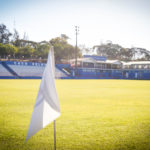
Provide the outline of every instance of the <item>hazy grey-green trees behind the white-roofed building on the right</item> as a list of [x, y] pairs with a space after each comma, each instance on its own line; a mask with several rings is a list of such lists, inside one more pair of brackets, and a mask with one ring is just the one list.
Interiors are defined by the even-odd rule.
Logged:
[[108, 59], [121, 61], [150, 60], [150, 52], [142, 48], [124, 48], [118, 44], [106, 43], [93, 47], [97, 55], [106, 56]]

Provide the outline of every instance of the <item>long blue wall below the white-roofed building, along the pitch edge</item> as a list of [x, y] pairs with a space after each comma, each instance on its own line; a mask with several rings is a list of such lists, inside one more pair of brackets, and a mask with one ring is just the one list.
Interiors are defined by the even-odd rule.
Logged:
[[[72, 70], [73, 72], [75, 70]], [[131, 79], [150, 80], [150, 70], [126, 70], [126, 69], [77, 69], [74, 79]]]

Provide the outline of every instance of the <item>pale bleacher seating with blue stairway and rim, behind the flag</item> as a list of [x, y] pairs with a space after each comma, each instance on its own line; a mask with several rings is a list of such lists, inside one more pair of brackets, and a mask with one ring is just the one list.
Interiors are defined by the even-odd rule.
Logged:
[[[43, 63], [33, 62], [0, 62], [0, 78], [41, 78], [45, 69]], [[66, 74], [55, 67], [55, 78], [66, 78]]]

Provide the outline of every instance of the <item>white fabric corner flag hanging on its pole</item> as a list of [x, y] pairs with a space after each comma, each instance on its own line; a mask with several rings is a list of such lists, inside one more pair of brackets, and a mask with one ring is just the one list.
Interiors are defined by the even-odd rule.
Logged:
[[26, 141], [60, 116], [60, 107], [55, 87], [54, 50], [51, 47], [43, 73]]

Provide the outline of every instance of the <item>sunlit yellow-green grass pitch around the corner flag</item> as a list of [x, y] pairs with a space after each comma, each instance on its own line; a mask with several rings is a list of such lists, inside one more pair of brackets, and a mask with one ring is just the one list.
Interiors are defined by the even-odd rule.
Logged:
[[[40, 80], [0, 80], [0, 150], [53, 150], [53, 124], [24, 143]], [[57, 80], [57, 150], [150, 150], [150, 81]]]

